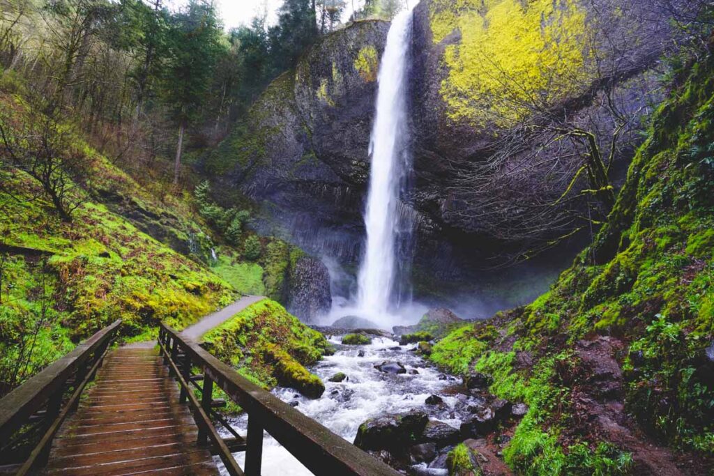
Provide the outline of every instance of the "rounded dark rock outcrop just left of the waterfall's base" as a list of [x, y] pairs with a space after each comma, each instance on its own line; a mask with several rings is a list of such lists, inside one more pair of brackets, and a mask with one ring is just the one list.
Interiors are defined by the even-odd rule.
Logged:
[[327, 268], [312, 256], [299, 258], [290, 273], [288, 310], [303, 322], [309, 323], [318, 315], [328, 312], [331, 306]]

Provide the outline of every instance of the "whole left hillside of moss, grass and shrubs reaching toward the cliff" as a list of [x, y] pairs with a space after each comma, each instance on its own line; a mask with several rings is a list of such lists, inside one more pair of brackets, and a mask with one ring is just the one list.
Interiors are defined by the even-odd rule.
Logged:
[[[303, 253], [248, 231], [249, 211], [226, 230], [214, 221], [236, 213], [201, 193], [156, 196], [73, 123], [31, 111], [21, 79], [1, 86], [0, 393], [116, 319], [125, 340], [147, 340], [238, 293], [287, 298]], [[38, 144], [48, 153], [24, 155]]]

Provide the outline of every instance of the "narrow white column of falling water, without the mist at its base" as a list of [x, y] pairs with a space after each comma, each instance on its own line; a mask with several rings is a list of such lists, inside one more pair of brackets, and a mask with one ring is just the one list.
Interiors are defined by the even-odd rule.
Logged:
[[357, 305], [371, 317], [389, 315], [398, 281], [400, 194], [409, 175], [407, 80], [412, 14], [392, 21], [378, 76], [376, 118], [370, 139], [371, 173], [364, 223], [366, 250], [358, 275]]

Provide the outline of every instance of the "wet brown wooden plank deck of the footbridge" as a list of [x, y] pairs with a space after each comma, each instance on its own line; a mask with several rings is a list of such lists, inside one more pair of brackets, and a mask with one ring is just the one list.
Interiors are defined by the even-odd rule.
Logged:
[[107, 355], [54, 440], [49, 475], [217, 475], [178, 387], [153, 348]]

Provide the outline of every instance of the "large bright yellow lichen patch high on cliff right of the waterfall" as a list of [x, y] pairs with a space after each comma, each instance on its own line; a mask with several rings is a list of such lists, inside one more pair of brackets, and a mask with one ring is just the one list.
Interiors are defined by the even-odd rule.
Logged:
[[432, 6], [434, 41], [461, 33], [443, 58], [441, 96], [451, 119], [511, 126], [533, 106], [556, 103], [587, 83], [586, 12], [577, 1], [456, 0], [451, 9], [444, 3]]

